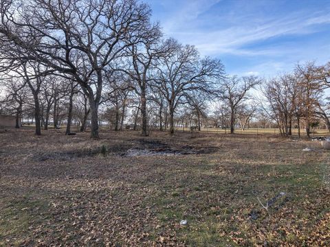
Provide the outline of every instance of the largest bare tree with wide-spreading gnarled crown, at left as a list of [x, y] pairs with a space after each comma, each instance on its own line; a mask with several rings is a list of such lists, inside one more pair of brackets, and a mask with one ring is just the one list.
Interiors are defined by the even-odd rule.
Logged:
[[103, 70], [125, 55], [129, 38], [145, 35], [150, 14], [135, 0], [1, 0], [3, 64], [29, 60], [74, 78], [89, 99], [91, 137], [98, 138]]

